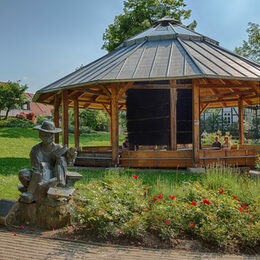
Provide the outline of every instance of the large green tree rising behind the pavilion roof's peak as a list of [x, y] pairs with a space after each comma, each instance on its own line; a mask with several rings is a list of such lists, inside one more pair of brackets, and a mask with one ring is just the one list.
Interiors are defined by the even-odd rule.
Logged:
[[[124, 13], [115, 17], [103, 34], [102, 49], [114, 50], [126, 39], [149, 28], [164, 16], [181, 21], [188, 19], [191, 10], [185, 10], [184, 0], [127, 0], [124, 1]], [[188, 27], [194, 29], [193, 21]]]

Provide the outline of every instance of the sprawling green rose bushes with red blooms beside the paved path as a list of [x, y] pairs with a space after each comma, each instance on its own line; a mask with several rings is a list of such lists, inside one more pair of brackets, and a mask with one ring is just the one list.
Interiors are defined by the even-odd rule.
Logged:
[[164, 241], [186, 234], [219, 247], [259, 246], [258, 194], [247, 201], [232, 187], [210, 187], [206, 181], [184, 183], [179, 196], [173, 190], [151, 197], [148, 188], [138, 176], [110, 172], [80, 187], [73, 214], [102, 237], [142, 238], [153, 232]]

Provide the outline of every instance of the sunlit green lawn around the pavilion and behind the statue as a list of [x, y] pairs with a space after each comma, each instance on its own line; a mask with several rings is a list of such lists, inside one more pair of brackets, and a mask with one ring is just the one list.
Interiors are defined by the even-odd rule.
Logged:
[[[122, 142], [123, 136], [120, 136]], [[18, 172], [23, 168], [30, 168], [29, 153], [35, 144], [39, 142], [38, 131], [26, 128], [0, 128], [0, 199], [17, 199]], [[74, 136], [69, 135], [69, 144], [73, 146]], [[82, 134], [81, 146], [109, 145], [109, 133], [98, 132]], [[83, 175], [80, 183], [88, 183], [94, 178], [103, 177], [107, 171], [101, 169], [77, 170]], [[225, 171], [225, 170], [224, 170]], [[217, 169], [213, 175], [192, 175], [184, 170], [120, 170], [120, 175], [139, 176], [146, 185], [151, 186], [151, 194], [170, 194], [174, 191], [181, 195], [185, 190], [185, 182], [199, 180], [210, 189], [225, 188], [234, 194], [241, 195], [248, 201], [254, 200], [260, 191], [258, 179], [241, 178], [226, 174], [223, 169]]]

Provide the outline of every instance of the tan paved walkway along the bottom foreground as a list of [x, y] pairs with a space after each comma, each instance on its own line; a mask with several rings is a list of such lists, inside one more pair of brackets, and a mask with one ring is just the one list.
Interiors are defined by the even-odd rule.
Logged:
[[14, 233], [0, 228], [0, 259], [260, 259], [260, 256], [219, 255], [174, 250], [143, 249], [79, 243], [43, 238], [37, 234]]

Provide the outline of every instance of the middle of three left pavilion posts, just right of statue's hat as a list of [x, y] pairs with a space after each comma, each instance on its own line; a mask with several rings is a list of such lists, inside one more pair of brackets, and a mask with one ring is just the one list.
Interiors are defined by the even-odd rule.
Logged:
[[69, 146], [69, 98], [68, 90], [62, 91], [62, 145]]

